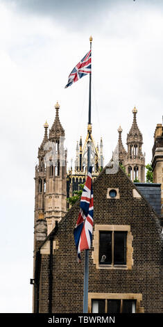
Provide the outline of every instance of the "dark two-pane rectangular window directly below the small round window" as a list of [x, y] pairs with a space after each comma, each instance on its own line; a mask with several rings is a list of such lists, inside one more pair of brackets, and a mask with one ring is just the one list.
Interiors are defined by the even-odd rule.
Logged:
[[127, 232], [100, 232], [99, 264], [126, 264]]

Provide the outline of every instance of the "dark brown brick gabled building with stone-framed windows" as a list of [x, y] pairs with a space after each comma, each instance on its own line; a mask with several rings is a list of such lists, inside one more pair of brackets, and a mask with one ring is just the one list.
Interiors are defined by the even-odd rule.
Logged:
[[[89, 312], [163, 312], [160, 216], [126, 173], [96, 177]], [[73, 230], [79, 201], [42, 242], [36, 235], [34, 312], [83, 312], [83, 263]], [[44, 239], [44, 241], [43, 241]]]

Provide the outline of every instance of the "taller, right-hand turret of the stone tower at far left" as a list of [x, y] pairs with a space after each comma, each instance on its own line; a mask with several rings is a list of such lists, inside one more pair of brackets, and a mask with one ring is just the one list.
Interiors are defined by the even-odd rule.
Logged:
[[60, 105], [55, 104], [55, 120], [49, 131], [49, 161], [46, 165], [46, 211], [47, 233], [55, 221], [67, 212], [67, 151], [64, 149], [65, 130], [59, 118]]

